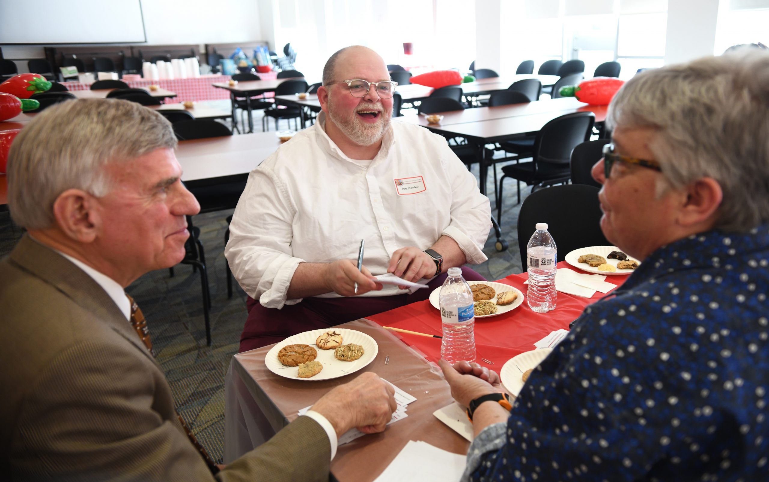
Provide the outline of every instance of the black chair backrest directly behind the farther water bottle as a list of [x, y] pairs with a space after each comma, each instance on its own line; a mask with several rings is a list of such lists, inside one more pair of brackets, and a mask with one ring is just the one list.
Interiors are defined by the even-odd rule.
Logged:
[[598, 188], [584, 184], [551, 186], [529, 194], [518, 213], [518, 249], [526, 266], [526, 245], [537, 223], [548, 223], [558, 246], [558, 261], [575, 249], [611, 246], [601, 231]]

